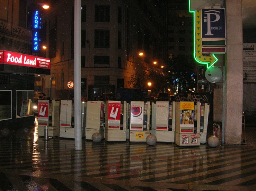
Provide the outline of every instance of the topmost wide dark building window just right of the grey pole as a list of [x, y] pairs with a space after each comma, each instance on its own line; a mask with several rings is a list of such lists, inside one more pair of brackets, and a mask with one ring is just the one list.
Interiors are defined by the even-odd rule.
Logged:
[[108, 5], [95, 5], [95, 22], [109, 22], [110, 7]]

